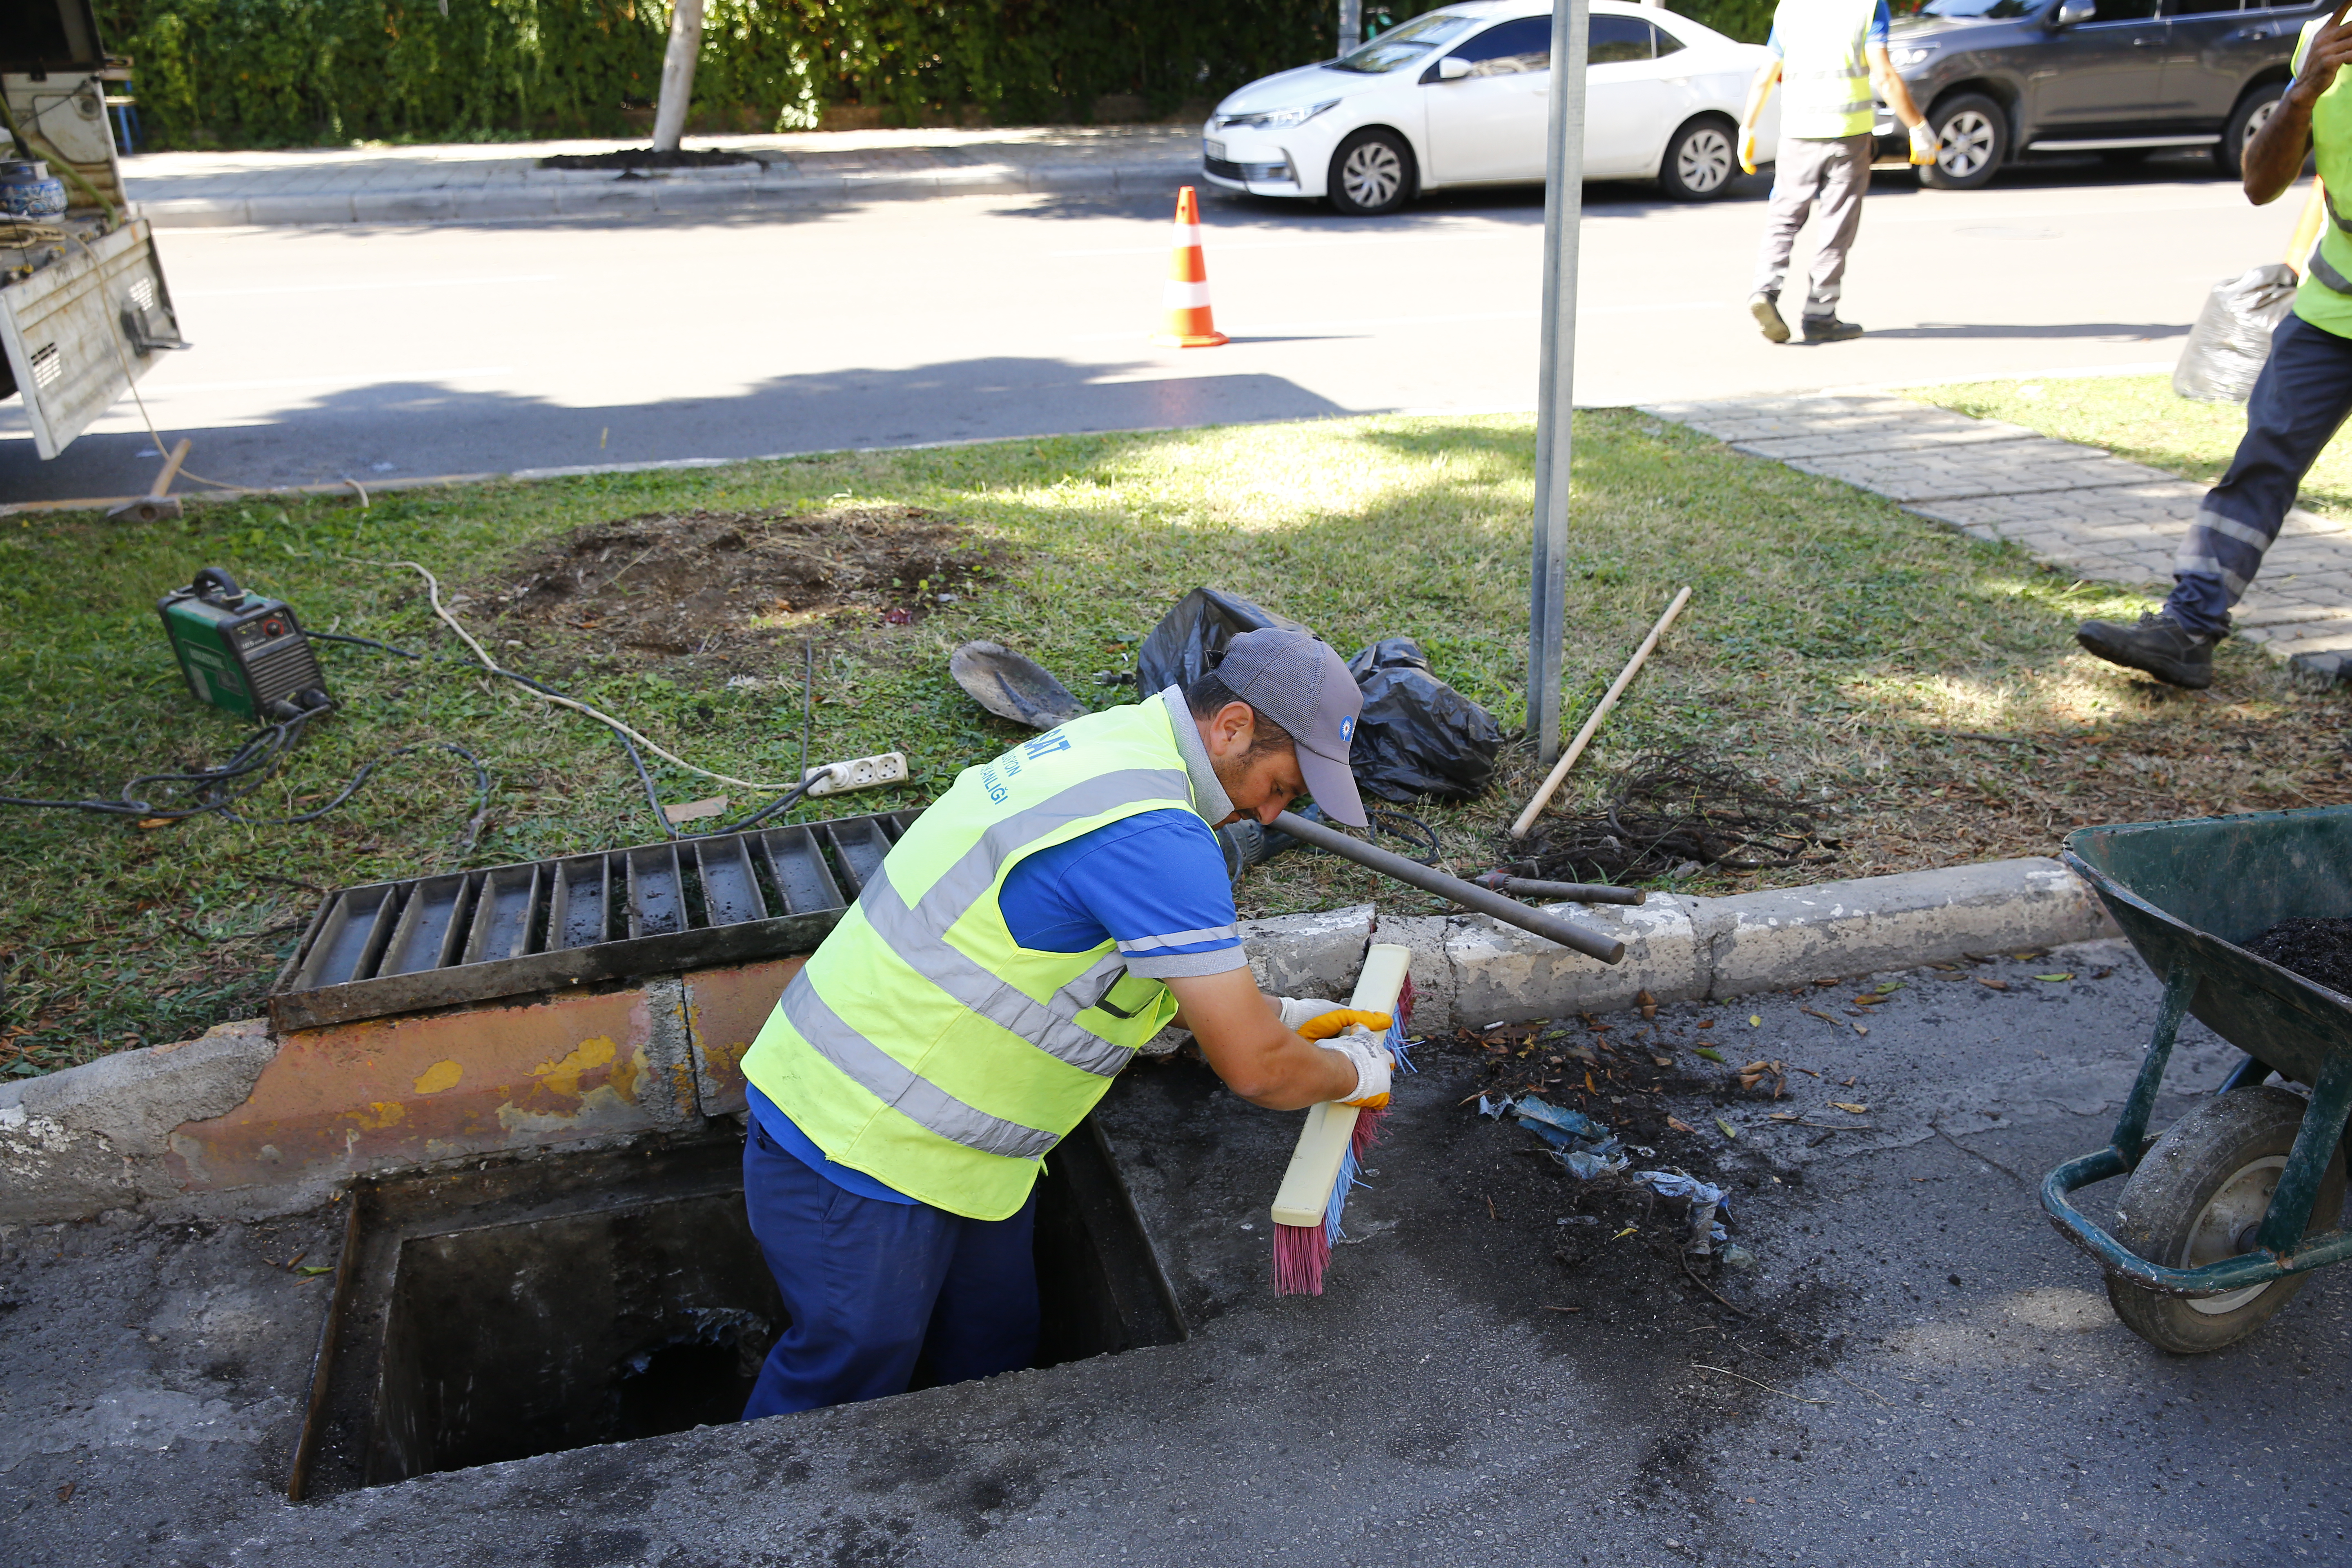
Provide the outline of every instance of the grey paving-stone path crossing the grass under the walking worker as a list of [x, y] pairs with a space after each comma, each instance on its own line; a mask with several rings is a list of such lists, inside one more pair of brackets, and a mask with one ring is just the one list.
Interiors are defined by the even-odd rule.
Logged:
[[[2077, 576], [2147, 583], [2159, 595], [2206, 494], [2098, 447], [1907, 397], [1738, 397], [1642, 411], [1733, 451], [1844, 480], [1976, 538], [2013, 541]], [[2352, 679], [2352, 529], [2303, 508], [2288, 512], [2234, 625], [2314, 682]]]

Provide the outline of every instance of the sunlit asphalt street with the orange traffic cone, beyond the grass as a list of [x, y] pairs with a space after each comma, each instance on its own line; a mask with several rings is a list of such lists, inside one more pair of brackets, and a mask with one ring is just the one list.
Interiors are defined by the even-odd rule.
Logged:
[[[2251, 209], [2199, 160], [1973, 193], [1882, 172], [1844, 308], [1870, 336], [1771, 348], [1743, 310], [1762, 188], [1588, 190], [1578, 402], [2169, 364], [2206, 287], [2277, 259], [2303, 200]], [[195, 350], [141, 390], [195, 437], [188, 468], [235, 484], [1534, 407], [1541, 193], [1204, 216], [1235, 339], [1214, 350], [1145, 343], [1164, 202], [165, 230]], [[0, 501], [143, 491], [146, 451], [129, 400], [54, 463], [0, 404]]]

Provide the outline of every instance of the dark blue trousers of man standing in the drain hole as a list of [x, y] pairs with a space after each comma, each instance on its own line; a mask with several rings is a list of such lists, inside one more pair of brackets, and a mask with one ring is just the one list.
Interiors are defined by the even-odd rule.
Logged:
[[1035, 1192], [1009, 1220], [858, 1197], [755, 1117], [743, 1208], [790, 1314], [743, 1420], [903, 1394], [917, 1361], [934, 1382], [964, 1382], [1035, 1359]]

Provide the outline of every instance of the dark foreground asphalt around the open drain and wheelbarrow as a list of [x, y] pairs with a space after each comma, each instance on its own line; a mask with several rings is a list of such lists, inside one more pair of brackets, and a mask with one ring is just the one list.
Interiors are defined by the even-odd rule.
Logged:
[[[1595, 1197], [1524, 1128], [1479, 1119], [1475, 1065], [1444, 1048], [1399, 1084], [1327, 1295], [1272, 1298], [1265, 1201], [1296, 1117], [1197, 1067], [1138, 1067], [1101, 1114], [1190, 1340], [301, 1507], [275, 1488], [322, 1288], [285, 1260], [332, 1258], [332, 1213], [0, 1234], [0, 1559], [2352, 1561], [2352, 1274], [2321, 1274], [2237, 1347], [2166, 1356], [2034, 1204], [2044, 1171], [2107, 1135], [2154, 1013], [2145, 969], [2103, 943], [1903, 978], [1867, 1037], [1839, 990], [1663, 1011], [1686, 1065], [1717, 1039], [1733, 1063], [1792, 1067], [1778, 1103], [1689, 1074], [1663, 1093], [1700, 1131], [1656, 1159], [1722, 1182], [1757, 1255], [1712, 1276], [1736, 1312], [1675, 1265], [1677, 1215]], [[1639, 1018], [1599, 1023], [1618, 1063], [1649, 1056], [1625, 1051]], [[2199, 1025], [2180, 1039], [2159, 1124], [2234, 1060]], [[1649, 1091], [1621, 1086], [1592, 1110], [1656, 1124]]]

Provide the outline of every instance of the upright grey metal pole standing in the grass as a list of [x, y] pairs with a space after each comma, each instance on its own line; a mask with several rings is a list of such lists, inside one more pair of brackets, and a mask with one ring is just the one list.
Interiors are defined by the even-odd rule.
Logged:
[[1543, 160], [1543, 381], [1536, 393], [1536, 562], [1526, 604], [1526, 733], [1559, 755], [1569, 592], [1569, 411], [1576, 407], [1576, 230], [1585, 216], [1585, 0], [1552, 5], [1552, 127]]

